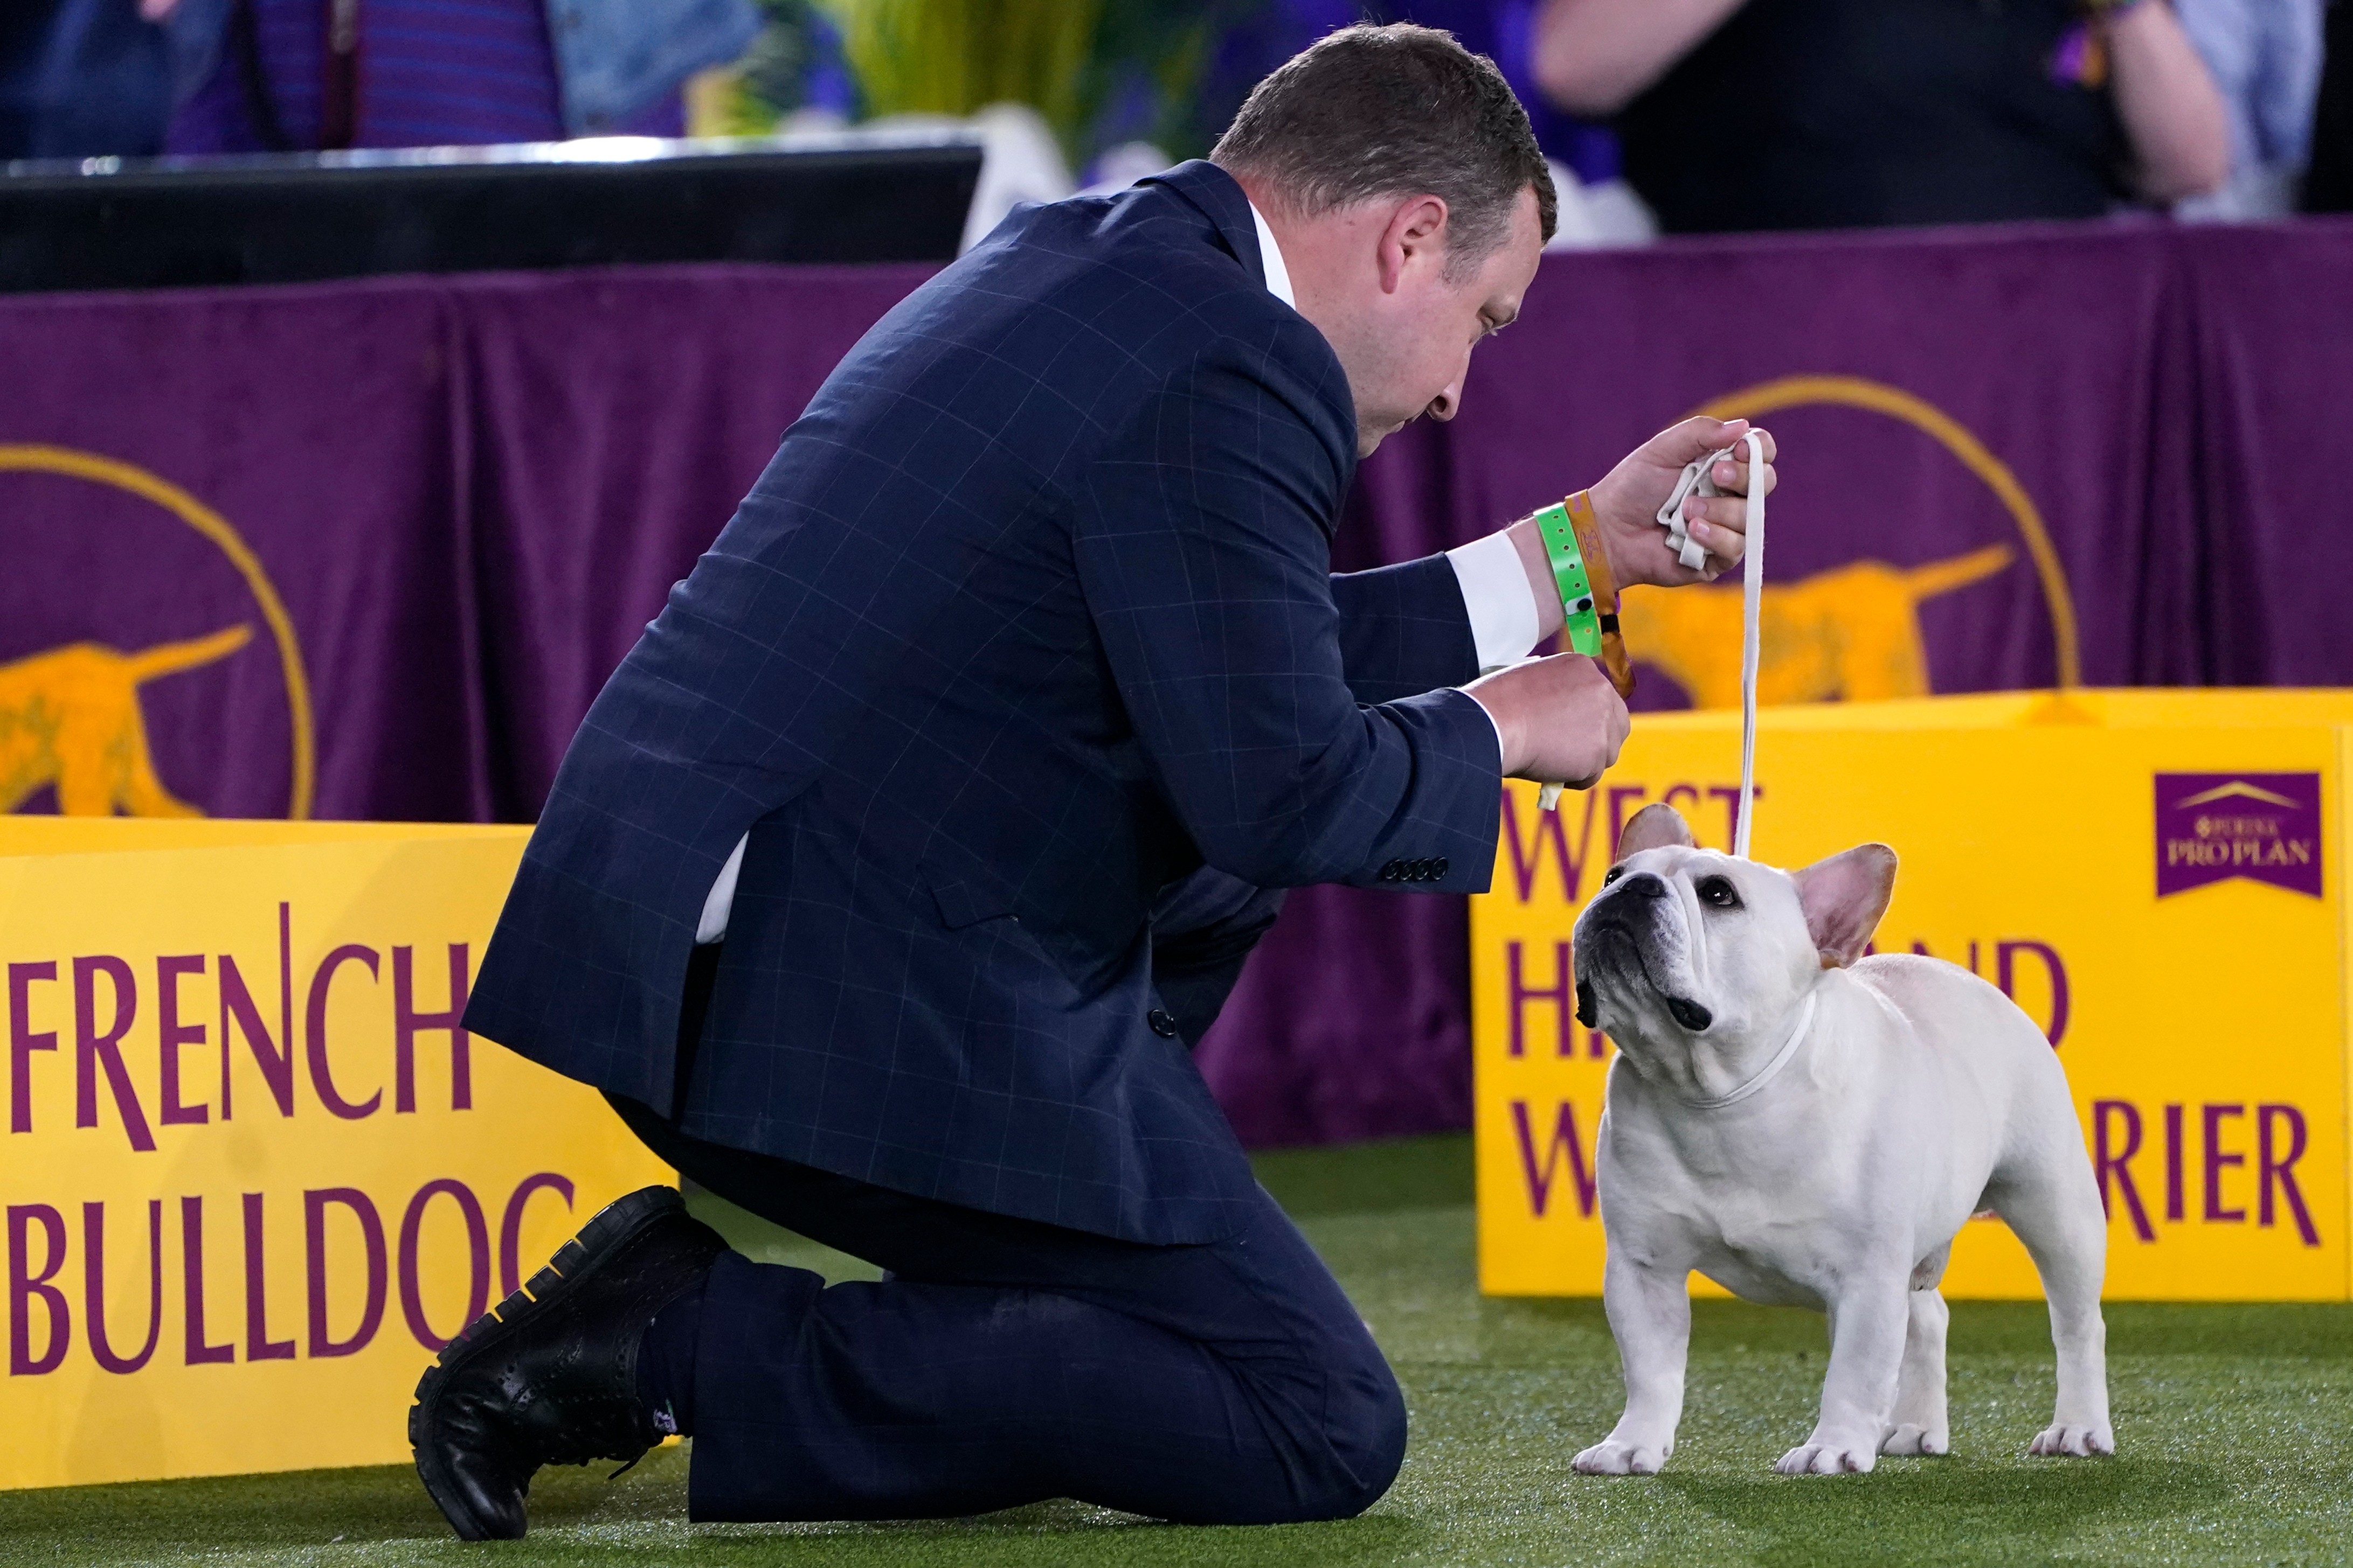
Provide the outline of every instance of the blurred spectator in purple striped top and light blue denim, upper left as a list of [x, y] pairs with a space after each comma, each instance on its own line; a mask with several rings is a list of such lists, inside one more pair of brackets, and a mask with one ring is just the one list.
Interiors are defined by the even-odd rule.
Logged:
[[685, 132], [680, 85], [751, 0], [141, 0], [169, 21], [169, 153]]

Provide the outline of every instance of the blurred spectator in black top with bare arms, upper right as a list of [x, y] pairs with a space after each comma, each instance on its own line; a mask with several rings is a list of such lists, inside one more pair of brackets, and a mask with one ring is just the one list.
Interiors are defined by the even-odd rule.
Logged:
[[1537, 80], [1617, 115], [1668, 233], [2087, 219], [2228, 176], [2165, 0], [1548, 0]]

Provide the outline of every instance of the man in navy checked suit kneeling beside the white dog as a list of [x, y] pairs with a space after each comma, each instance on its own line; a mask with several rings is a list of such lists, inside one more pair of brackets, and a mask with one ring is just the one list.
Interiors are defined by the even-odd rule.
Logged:
[[[1499, 780], [1626, 733], [1588, 658], [1480, 679], [1560, 625], [1529, 522], [1329, 574], [1358, 458], [1454, 416], [1551, 226], [1489, 61], [1348, 28], [1212, 162], [1016, 212], [842, 360], [574, 738], [466, 1025], [887, 1274], [609, 1206], [419, 1385], [461, 1535], [666, 1432], [696, 1519], [1388, 1488], [1398, 1385], [1188, 1046], [1280, 889], [1485, 889]], [[1737, 430], [1593, 487], [1621, 583], [1704, 576], [1652, 512]], [[1713, 576], [1739, 501], [1692, 505]]]

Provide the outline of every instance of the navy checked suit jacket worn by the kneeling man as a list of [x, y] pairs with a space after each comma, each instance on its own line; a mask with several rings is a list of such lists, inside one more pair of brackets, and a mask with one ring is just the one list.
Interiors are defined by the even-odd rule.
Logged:
[[1148, 1023], [1155, 893], [1494, 863], [1461, 590], [1329, 574], [1353, 473], [1339, 360], [1224, 169], [1016, 212], [842, 360], [598, 696], [466, 1025], [694, 1138], [1228, 1234], [1254, 1185]]

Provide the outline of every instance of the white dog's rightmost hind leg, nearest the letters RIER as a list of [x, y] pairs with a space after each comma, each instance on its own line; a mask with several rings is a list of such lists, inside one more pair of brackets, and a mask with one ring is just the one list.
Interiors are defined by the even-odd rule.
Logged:
[[2108, 1326], [2099, 1314], [2108, 1222], [2073, 1117], [2066, 1138], [2057, 1159], [2019, 1180], [1998, 1182], [1988, 1197], [2033, 1253], [2052, 1309], [2052, 1347], [2059, 1352], [2059, 1403], [2028, 1453], [2087, 1458], [2115, 1453], [2115, 1432], [2108, 1427]]

